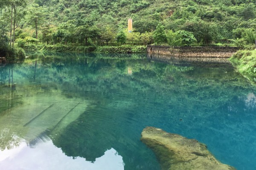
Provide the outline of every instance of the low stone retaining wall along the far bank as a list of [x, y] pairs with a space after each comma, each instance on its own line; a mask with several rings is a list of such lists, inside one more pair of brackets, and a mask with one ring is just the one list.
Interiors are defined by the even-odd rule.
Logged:
[[[163, 58], [170, 57], [179, 58], [229, 58], [239, 48], [237, 47], [172, 47], [172, 46], [157, 46], [148, 45], [147, 52], [152, 55], [162, 55]], [[166, 57], [164, 57], [166, 56]]]

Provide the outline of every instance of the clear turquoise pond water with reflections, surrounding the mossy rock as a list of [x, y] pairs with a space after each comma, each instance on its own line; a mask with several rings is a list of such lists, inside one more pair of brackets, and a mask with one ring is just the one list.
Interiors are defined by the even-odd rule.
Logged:
[[256, 88], [229, 64], [33, 54], [0, 75], [0, 169], [160, 170], [146, 126], [256, 169]]

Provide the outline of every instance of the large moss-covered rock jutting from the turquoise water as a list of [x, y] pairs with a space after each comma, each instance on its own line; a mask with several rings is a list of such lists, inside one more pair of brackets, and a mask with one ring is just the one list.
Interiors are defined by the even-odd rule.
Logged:
[[141, 136], [140, 140], [156, 154], [162, 170], [236, 170], [221, 164], [205, 144], [195, 139], [187, 139], [155, 127], [145, 127]]

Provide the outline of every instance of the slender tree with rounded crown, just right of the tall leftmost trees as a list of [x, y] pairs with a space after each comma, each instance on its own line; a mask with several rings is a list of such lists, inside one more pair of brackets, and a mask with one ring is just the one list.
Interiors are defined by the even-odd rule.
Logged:
[[38, 24], [44, 20], [44, 8], [38, 4], [34, 4], [33, 6], [29, 7], [28, 11], [28, 20], [32, 25], [35, 24], [35, 38], [38, 39]]

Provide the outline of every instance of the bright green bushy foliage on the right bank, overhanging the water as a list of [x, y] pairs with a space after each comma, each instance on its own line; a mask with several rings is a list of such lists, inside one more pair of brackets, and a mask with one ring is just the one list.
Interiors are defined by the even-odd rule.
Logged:
[[239, 73], [256, 82], [256, 51], [240, 50], [231, 57], [232, 64]]

